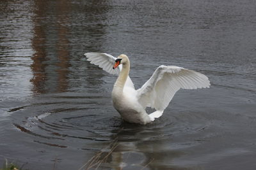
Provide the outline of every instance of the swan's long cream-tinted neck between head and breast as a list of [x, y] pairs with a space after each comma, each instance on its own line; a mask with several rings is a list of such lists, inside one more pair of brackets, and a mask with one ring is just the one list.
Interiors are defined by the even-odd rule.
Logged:
[[114, 88], [118, 88], [120, 90], [124, 89], [125, 82], [127, 80], [127, 77], [129, 76], [129, 71], [130, 71], [130, 62], [128, 60], [128, 62], [122, 65], [122, 70], [115, 82]]

